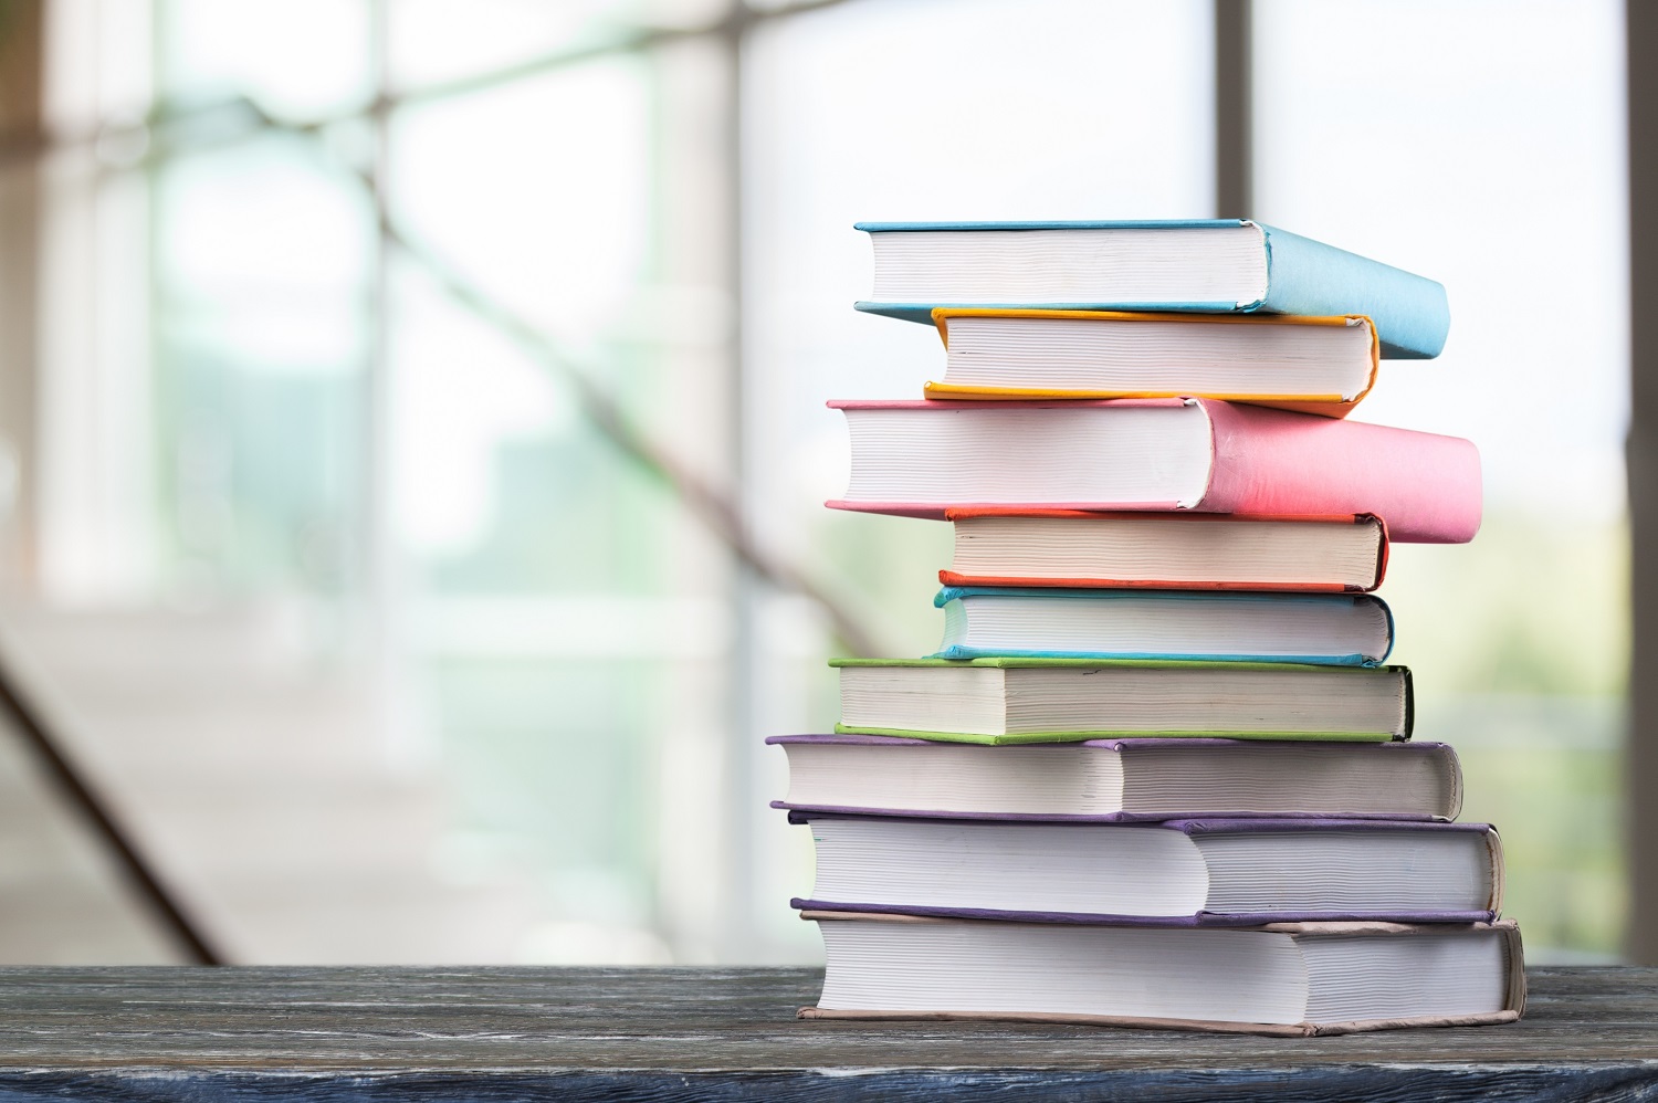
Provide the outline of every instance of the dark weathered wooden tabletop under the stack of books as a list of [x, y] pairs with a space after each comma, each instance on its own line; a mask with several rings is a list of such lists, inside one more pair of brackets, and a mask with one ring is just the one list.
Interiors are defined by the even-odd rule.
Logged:
[[1336, 1038], [797, 1022], [816, 970], [0, 969], [0, 1101], [1658, 1100], [1658, 970]]

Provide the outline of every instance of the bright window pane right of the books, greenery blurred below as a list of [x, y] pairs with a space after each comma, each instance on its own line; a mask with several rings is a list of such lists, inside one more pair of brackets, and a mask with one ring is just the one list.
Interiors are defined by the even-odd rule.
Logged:
[[1383, 594], [1419, 738], [1492, 819], [1527, 955], [1613, 954], [1628, 662], [1623, 7], [1255, 5], [1258, 216], [1446, 284], [1439, 360], [1360, 416], [1467, 436], [1469, 547], [1399, 547]]

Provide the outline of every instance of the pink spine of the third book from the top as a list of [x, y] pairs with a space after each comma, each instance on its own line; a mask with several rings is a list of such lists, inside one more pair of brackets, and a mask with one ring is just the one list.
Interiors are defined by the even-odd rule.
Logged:
[[1456, 436], [1199, 400], [1214, 433], [1202, 513], [1370, 513], [1388, 537], [1466, 544], [1479, 531], [1479, 449]]

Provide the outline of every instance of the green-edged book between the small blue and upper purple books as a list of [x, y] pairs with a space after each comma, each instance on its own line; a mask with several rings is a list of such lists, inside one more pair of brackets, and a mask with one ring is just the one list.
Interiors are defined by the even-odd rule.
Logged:
[[1411, 736], [1404, 667], [1134, 658], [834, 658], [836, 731], [962, 743]]

